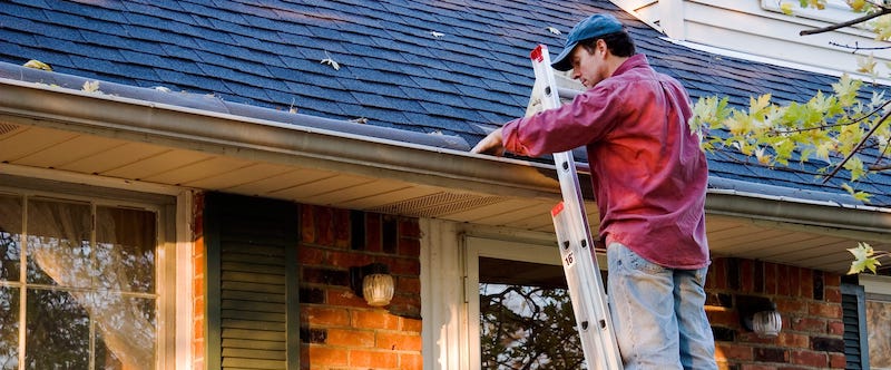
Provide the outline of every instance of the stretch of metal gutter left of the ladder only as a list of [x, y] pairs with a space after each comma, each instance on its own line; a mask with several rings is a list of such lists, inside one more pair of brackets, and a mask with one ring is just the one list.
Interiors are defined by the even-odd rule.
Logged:
[[324, 125], [317, 117], [295, 115], [296, 124], [282, 124], [9, 79], [0, 79], [0, 123], [40, 120], [43, 127], [89, 135], [495, 195], [559, 194], [552, 165], [489, 160], [464, 150], [300, 124]]

